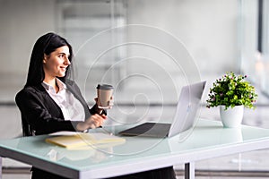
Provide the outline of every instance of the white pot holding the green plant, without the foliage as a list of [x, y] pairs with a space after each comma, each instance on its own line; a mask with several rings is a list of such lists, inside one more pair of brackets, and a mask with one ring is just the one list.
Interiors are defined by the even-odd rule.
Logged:
[[228, 107], [226, 110], [224, 106], [220, 106], [220, 115], [223, 127], [240, 127], [244, 115], [244, 106]]

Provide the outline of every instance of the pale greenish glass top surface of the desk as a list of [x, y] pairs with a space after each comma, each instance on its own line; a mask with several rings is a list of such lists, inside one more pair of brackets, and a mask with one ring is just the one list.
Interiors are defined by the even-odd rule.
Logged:
[[[117, 133], [122, 126], [107, 127], [106, 131]], [[97, 129], [93, 132], [103, 132]], [[198, 120], [195, 128], [172, 138], [157, 139], [146, 137], [124, 137], [125, 143], [103, 145], [86, 149], [65, 149], [45, 141], [48, 135], [23, 137], [0, 141], [0, 151], [4, 149], [19, 152], [33, 158], [72, 168], [77, 171], [139, 163], [153, 158], [171, 158], [191, 155], [195, 152], [221, 149], [241, 144], [257, 145], [256, 142], [269, 141], [269, 130], [242, 125], [239, 129], [223, 128], [220, 122]], [[10, 156], [8, 156], [10, 157]]]

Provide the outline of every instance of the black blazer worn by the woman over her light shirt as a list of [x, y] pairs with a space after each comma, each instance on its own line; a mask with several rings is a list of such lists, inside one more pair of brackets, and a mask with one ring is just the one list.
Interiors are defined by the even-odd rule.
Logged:
[[[96, 113], [97, 107], [94, 106], [91, 109], [88, 107], [74, 81], [65, 81], [65, 85], [82, 103], [85, 119]], [[61, 108], [57, 106], [41, 84], [23, 88], [18, 92], [15, 100], [21, 111], [24, 136], [75, 130], [78, 122], [65, 121]]]

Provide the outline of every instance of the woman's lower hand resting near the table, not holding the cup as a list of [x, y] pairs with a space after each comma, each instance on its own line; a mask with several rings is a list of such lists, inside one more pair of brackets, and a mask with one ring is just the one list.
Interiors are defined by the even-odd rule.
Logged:
[[76, 125], [76, 129], [78, 131], [85, 131], [87, 129], [95, 129], [97, 127], [100, 127], [104, 120], [107, 119], [107, 115], [91, 115], [88, 119], [86, 119], [84, 122], [81, 122]]

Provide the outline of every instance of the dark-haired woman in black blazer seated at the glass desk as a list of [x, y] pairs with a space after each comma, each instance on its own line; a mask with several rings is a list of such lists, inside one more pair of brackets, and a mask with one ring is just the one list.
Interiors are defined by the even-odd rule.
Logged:
[[[15, 98], [22, 115], [23, 135], [83, 132], [99, 127], [107, 118], [106, 111], [96, 104], [90, 109], [78, 86], [68, 79], [72, 58], [71, 45], [55, 33], [45, 34], [35, 43], [26, 84]], [[112, 100], [110, 104], [112, 107]], [[166, 177], [167, 174], [173, 177]], [[150, 175], [152, 178], [156, 178], [156, 175], [160, 178], [175, 178], [171, 167], [126, 175], [123, 178], [149, 178]], [[63, 177], [33, 167], [32, 178]]]

